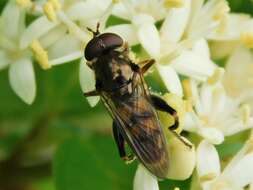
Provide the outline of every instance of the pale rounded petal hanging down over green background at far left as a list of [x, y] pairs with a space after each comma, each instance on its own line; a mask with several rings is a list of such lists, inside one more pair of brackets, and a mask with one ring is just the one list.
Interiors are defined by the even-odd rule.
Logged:
[[27, 104], [32, 104], [36, 83], [31, 60], [22, 59], [10, 65], [9, 80], [14, 92]]

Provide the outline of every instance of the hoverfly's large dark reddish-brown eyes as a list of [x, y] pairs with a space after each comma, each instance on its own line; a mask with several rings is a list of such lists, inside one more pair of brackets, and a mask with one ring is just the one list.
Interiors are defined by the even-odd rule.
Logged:
[[91, 61], [93, 58], [102, 55], [105, 51], [120, 47], [122, 44], [123, 40], [117, 34], [104, 33], [89, 41], [85, 48], [84, 55], [88, 61]]

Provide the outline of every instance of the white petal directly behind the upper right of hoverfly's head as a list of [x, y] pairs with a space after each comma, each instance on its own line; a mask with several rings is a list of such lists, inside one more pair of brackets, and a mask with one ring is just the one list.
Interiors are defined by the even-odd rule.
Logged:
[[120, 24], [108, 27], [105, 32], [113, 32], [120, 35], [130, 46], [139, 43], [135, 28], [131, 24]]

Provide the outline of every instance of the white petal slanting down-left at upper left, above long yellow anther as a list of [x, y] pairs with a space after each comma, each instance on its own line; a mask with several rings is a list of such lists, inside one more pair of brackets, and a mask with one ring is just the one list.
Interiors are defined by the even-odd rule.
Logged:
[[58, 24], [58, 22], [49, 21], [46, 16], [39, 17], [30, 24], [22, 34], [20, 48], [24, 49], [28, 47], [33, 40], [40, 38]]

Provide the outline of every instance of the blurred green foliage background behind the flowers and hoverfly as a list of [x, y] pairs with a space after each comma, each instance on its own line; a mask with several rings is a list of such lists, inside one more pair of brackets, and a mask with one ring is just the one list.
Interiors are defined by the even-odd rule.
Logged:
[[[0, 1], [0, 11], [6, 2]], [[229, 3], [232, 11], [253, 15], [251, 0]], [[122, 21], [111, 17], [108, 25], [118, 22]], [[138, 46], [134, 49], [140, 51]], [[8, 70], [0, 72], [0, 190], [132, 189], [137, 164], [120, 160], [111, 118], [101, 103], [91, 108], [83, 97], [78, 65], [77, 61], [43, 71], [34, 64], [37, 97], [31, 106], [11, 90]], [[155, 74], [147, 80], [154, 90], [163, 90]], [[242, 144], [233, 137], [228, 142], [218, 147], [222, 157]], [[187, 190], [190, 181], [166, 180], [160, 187]]]

